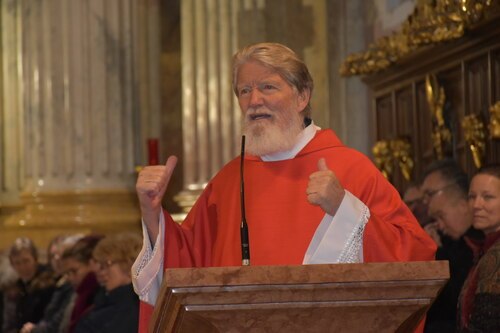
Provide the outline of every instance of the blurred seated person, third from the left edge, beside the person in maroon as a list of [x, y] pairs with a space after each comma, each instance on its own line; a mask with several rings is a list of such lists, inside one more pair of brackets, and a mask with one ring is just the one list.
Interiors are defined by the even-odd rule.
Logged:
[[24, 324], [20, 333], [51, 333], [59, 332], [66, 308], [70, 304], [74, 290], [64, 275], [61, 257], [63, 252], [73, 246], [83, 235], [60, 235], [49, 243], [48, 261], [56, 278], [55, 290], [50, 303], [45, 309], [43, 318], [38, 323]]

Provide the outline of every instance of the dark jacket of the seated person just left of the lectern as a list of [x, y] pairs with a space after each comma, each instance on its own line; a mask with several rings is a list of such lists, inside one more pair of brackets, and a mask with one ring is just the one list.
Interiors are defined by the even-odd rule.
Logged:
[[136, 333], [139, 298], [132, 284], [111, 290], [77, 324], [75, 333]]

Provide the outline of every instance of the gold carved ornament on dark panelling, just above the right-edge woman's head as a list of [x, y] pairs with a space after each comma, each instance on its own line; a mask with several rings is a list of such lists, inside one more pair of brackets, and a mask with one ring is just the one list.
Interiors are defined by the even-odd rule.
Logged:
[[477, 114], [470, 114], [462, 119], [465, 142], [472, 153], [476, 168], [483, 165], [484, 151], [486, 148], [485, 127]]

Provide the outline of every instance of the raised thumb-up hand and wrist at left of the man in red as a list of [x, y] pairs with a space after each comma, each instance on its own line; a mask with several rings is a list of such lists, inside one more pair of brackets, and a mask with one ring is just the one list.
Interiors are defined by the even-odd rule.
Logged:
[[177, 157], [170, 156], [165, 165], [144, 167], [137, 178], [135, 189], [139, 197], [142, 219], [152, 244], [158, 237], [161, 201], [176, 164]]

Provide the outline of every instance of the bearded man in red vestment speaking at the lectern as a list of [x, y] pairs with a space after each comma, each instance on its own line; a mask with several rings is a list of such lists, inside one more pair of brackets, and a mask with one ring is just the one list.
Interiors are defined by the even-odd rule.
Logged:
[[[311, 121], [313, 81], [292, 50], [250, 45], [235, 54], [233, 73], [248, 143], [252, 265], [434, 258], [435, 244], [369, 159]], [[164, 268], [242, 262], [240, 158], [207, 184], [182, 225], [161, 208], [175, 164], [170, 157], [146, 167], [137, 180], [145, 245], [133, 273], [142, 325]]]

